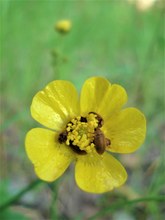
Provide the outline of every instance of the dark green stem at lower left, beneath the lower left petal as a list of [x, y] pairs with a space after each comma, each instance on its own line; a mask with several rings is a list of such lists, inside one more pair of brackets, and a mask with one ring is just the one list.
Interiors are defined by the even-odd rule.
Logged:
[[27, 192], [29, 192], [30, 190], [32, 190], [34, 187], [36, 187], [37, 185], [39, 185], [39, 183], [43, 183], [41, 180], [35, 180], [34, 182], [30, 183], [27, 187], [25, 187], [24, 189], [22, 189], [20, 192], [18, 192], [18, 194], [16, 194], [14, 197], [12, 197], [11, 199], [9, 199], [8, 201], [6, 201], [4, 204], [2, 204], [0, 206], [0, 211], [5, 210], [6, 208], [8, 208], [9, 206], [11, 206], [12, 204], [14, 204], [15, 202], [17, 202], [24, 194], [26, 194]]

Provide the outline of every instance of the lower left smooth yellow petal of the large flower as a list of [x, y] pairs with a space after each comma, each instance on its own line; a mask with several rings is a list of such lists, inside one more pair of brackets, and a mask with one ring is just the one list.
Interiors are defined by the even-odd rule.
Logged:
[[58, 135], [43, 128], [34, 128], [26, 135], [25, 145], [29, 159], [38, 177], [53, 181], [67, 169], [74, 154], [57, 141]]

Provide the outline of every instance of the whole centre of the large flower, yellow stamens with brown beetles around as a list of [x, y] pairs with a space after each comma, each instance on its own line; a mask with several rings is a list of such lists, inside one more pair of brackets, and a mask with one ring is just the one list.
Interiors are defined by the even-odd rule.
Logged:
[[66, 126], [66, 130], [59, 135], [59, 142], [66, 143], [78, 154], [87, 154], [97, 151], [102, 154], [110, 140], [104, 137], [101, 127], [103, 119], [95, 112], [86, 117], [78, 116]]

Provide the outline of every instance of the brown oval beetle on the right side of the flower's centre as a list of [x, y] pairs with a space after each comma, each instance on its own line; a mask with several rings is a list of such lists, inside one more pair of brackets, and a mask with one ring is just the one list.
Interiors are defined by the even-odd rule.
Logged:
[[98, 154], [103, 154], [105, 148], [111, 144], [110, 140], [104, 136], [99, 127], [95, 131], [93, 143]]

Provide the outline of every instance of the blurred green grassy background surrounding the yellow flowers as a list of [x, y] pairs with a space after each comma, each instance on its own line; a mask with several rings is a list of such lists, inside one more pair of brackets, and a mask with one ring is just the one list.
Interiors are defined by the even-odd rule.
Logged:
[[[24, 138], [39, 126], [30, 116], [32, 98], [52, 80], [70, 80], [79, 91], [96, 75], [122, 85], [128, 106], [146, 115], [147, 137], [137, 152], [115, 155], [129, 174], [120, 189], [82, 192], [71, 166], [57, 182], [41, 182], [21, 196], [0, 219], [163, 219], [165, 202], [156, 198], [165, 194], [164, 6], [156, 1], [145, 10], [139, 2], [1, 1], [0, 204], [36, 180]], [[72, 22], [65, 35], [54, 29], [60, 19]], [[127, 202], [148, 196], [155, 200]]]

